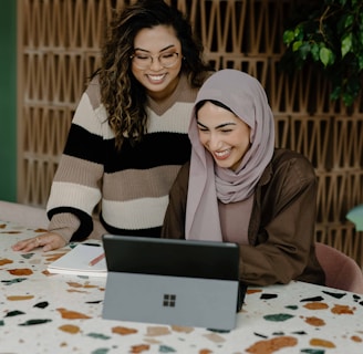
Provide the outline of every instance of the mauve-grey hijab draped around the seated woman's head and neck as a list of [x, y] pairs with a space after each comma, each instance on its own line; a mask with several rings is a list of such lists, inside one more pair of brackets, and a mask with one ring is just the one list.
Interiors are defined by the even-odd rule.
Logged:
[[[200, 87], [195, 106], [205, 100], [219, 101], [250, 126], [250, 148], [239, 168], [221, 168], [200, 144], [196, 111], [189, 125], [191, 142], [189, 188], [186, 207], [186, 239], [221, 241], [218, 199], [224, 204], [251, 197], [274, 148], [274, 122], [262, 85], [232, 69], [212, 74]], [[242, 215], [249, 223], [250, 212]]]

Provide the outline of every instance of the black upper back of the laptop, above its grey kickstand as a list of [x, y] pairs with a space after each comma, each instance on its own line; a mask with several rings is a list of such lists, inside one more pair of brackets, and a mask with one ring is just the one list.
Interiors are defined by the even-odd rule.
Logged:
[[237, 243], [104, 235], [108, 271], [238, 280]]

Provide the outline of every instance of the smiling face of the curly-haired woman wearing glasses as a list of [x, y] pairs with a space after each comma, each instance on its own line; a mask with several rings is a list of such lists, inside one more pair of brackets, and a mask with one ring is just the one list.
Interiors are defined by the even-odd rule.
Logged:
[[[149, 66], [141, 69], [132, 61], [132, 72], [136, 80], [146, 88], [154, 100], [164, 100], [175, 90], [182, 69], [182, 44], [173, 27], [157, 25], [141, 30], [134, 40], [134, 55], [152, 55]], [[164, 67], [159, 55], [178, 53], [174, 65]]]

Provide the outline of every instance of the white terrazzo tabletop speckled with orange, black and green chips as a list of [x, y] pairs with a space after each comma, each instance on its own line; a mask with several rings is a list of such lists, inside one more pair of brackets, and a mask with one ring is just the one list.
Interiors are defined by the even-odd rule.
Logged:
[[0, 354], [363, 353], [363, 295], [302, 282], [249, 288], [228, 333], [103, 320], [105, 278], [46, 271], [69, 248], [11, 250], [41, 232], [0, 221]]

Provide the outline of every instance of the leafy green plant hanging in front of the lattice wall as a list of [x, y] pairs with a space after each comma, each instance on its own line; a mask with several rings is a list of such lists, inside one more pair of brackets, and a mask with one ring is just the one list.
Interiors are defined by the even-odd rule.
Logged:
[[281, 67], [313, 65], [331, 83], [331, 98], [351, 106], [362, 91], [363, 1], [315, 0], [295, 10], [284, 27]]

